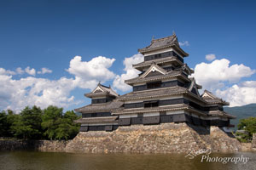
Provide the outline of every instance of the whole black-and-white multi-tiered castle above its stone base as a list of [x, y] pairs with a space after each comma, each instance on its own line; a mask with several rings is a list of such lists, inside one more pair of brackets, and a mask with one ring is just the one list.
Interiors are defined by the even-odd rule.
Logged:
[[76, 121], [81, 123], [80, 132], [170, 122], [218, 126], [227, 132], [233, 127], [230, 119], [236, 117], [223, 110], [228, 102], [207, 90], [198, 93], [202, 87], [189, 78], [194, 72], [184, 63], [189, 54], [179, 47], [175, 34], [153, 39], [138, 52], [144, 55], [144, 61], [132, 66], [141, 73], [125, 80], [133, 88], [131, 93], [119, 96], [112, 88], [99, 83], [92, 92], [84, 94], [91, 104], [75, 109], [82, 113], [82, 118]]

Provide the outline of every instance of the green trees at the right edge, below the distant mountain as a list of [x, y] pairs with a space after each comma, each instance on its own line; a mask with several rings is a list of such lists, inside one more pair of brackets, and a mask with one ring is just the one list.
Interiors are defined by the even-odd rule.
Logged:
[[240, 136], [241, 142], [249, 142], [253, 139], [253, 133], [256, 133], [256, 117], [241, 119], [238, 124], [239, 130], [245, 130], [246, 133], [236, 133]]

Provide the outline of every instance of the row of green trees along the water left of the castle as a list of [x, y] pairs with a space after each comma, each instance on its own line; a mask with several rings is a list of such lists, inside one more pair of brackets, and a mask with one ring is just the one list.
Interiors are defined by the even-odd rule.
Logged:
[[74, 111], [63, 113], [62, 108], [49, 105], [42, 111], [39, 107], [26, 106], [20, 114], [14, 111], [0, 112], [0, 137], [17, 139], [73, 139], [79, 133], [79, 119]]

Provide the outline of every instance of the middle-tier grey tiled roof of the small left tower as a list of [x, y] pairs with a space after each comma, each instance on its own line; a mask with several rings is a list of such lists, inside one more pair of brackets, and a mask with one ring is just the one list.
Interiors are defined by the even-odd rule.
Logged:
[[114, 109], [119, 108], [121, 105], [123, 105], [123, 102], [113, 100], [102, 104], [85, 105], [84, 107], [75, 109], [75, 111], [79, 113], [111, 112]]

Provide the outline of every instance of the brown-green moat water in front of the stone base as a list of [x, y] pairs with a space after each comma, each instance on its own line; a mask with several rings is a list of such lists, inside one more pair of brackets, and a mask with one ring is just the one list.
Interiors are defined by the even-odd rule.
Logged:
[[[0, 170], [256, 169], [255, 152], [209, 155], [210, 158], [218, 156], [218, 162], [208, 162], [206, 161], [207, 158], [201, 161], [204, 155], [198, 155], [194, 158], [192, 156], [185, 156], [186, 155], [181, 154], [75, 154], [37, 151], [2, 151], [0, 152]], [[224, 157], [230, 157], [230, 162], [226, 164], [220, 162]], [[231, 160], [232, 157], [233, 160]], [[248, 157], [249, 160], [246, 163], [242, 161], [235, 162], [236, 157]]]

